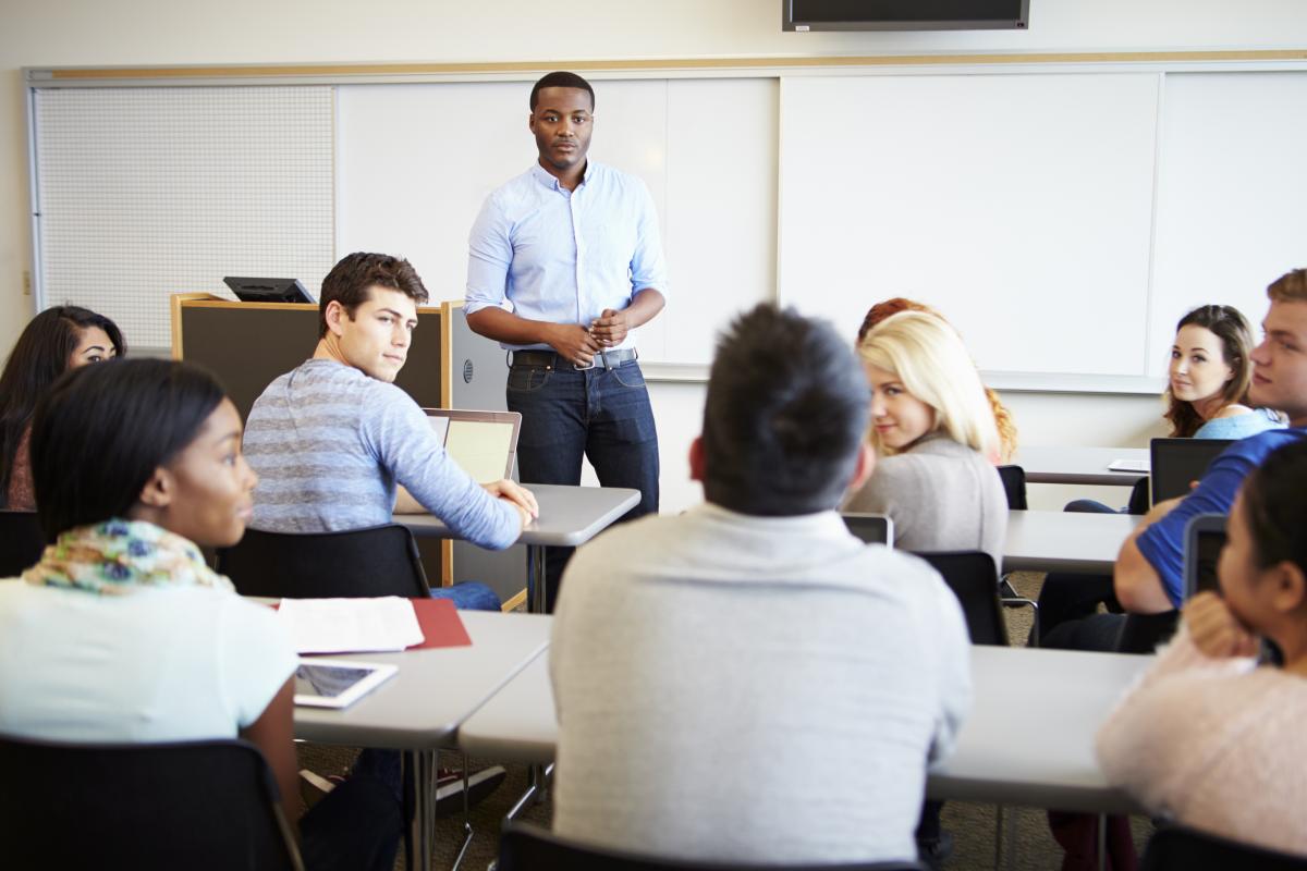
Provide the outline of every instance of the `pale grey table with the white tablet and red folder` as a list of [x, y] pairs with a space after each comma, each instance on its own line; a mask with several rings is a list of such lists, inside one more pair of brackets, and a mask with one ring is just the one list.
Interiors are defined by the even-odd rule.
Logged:
[[[471, 646], [359, 653], [399, 674], [345, 710], [295, 708], [295, 738], [404, 751], [416, 784], [405, 867], [431, 867], [435, 750], [452, 747], [459, 726], [549, 645], [553, 618], [459, 611]], [[333, 657], [340, 658], [340, 657]]]

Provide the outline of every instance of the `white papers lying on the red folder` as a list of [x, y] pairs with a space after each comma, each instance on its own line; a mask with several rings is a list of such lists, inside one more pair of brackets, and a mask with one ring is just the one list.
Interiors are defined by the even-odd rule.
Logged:
[[425, 640], [413, 603], [396, 595], [282, 599], [277, 615], [299, 653], [403, 650]]

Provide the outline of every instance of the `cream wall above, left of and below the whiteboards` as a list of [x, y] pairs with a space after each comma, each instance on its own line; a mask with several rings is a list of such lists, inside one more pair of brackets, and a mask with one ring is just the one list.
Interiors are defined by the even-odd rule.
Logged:
[[[0, 349], [31, 315], [21, 67], [298, 61], [505, 61], [968, 51], [1302, 48], [1300, 0], [1031, 0], [1029, 31], [786, 34], [776, 0], [0, 0]], [[561, 63], [553, 63], [561, 61]], [[1286, 268], [1293, 264], [1286, 264]], [[1104, 349], [1111, 353], [1111, 349]], [[1142, 444], [1157, 402], [1012, 394], [1029, 444]], [[702, 387], [654, 389], [664, 509], [684, 482]], [[1115, 496], [1115, 494], [1112, 494]], [[1033, 494], [1035, 500], [1043, 499]], [[1048, 496], [1050, 503], [1060, 496]]]

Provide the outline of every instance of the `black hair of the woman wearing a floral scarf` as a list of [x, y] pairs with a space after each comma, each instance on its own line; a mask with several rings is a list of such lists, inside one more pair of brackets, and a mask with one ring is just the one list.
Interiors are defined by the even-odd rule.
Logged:
[[31, 422], [46, 541], [125, 517], [154, 470], [195, 440], [223, 396], [207, 371], [173, 360], [108, 360], [60, 377]]

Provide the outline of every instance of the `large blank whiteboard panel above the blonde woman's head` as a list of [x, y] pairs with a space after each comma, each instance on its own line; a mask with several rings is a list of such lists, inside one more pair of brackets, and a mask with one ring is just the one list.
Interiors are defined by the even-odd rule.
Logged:
[[1158, 74], [787, 78], [780, 298], [942, 309], [983, 370], [1142, 376]]

